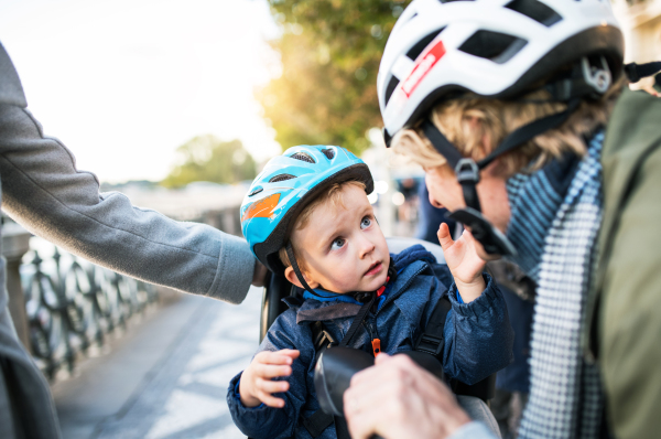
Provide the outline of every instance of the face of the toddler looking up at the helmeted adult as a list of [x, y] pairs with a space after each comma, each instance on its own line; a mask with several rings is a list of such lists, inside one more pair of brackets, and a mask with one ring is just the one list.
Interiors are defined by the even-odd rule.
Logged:
[[[386, 237], [364, 190], [345, 185], [342, 201], [346, 208], [324, 203], [292, 234], [304, 259], [301, 269], [312, 288], [339, 293], [377, 290], [386, 283], [390, 265]], [[296, 278], [291, 267], [285, 274], [292, 281]]]

